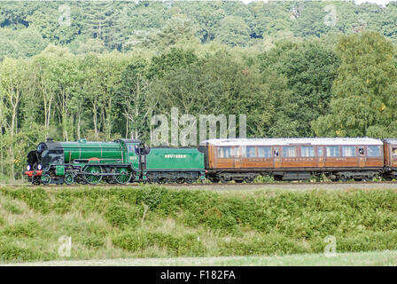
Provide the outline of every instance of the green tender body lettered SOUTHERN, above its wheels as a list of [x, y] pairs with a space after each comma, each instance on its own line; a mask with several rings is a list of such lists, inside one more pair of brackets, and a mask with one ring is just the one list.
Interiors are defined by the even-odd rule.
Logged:
[[146, 170], [205, 170], [204, 154], [195, 148], [151, 148]]

